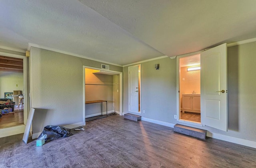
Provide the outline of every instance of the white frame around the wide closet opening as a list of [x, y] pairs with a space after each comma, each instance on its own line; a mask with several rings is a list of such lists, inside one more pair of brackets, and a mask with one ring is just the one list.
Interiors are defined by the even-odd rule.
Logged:
[[86, 125], [85, 123], [85, 68], [88, 69], [94, 69], [94, 70], [102, 70], [104, 72], [110, 72], [113, 74], [119, 74], [119, 115], [124, 115], [123, 112], [123, 72], [119, 72], [119, 71], [114, 71], [114, 70], [106, 70], [106, 69], [101, 69], [101, 68], [95, 68], [92, 66], [83, 66], [83, 123], [84, 125]]

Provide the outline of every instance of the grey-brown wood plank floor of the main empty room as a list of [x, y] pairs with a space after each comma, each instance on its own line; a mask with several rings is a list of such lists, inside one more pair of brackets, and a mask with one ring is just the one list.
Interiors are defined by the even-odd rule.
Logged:
[[146, 121], [113, 115], [86, 122], [84, 131], [36, 147], [22, 134], [0, 138], [1, 168], [253, 168], [256, 149], [205, 141]]

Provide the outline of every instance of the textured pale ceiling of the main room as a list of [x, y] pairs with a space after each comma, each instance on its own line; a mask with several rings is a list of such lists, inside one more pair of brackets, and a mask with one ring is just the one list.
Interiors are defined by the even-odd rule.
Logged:
[[0, 46], [126, 65], [256, 37], [255, 0], [0, 0]]

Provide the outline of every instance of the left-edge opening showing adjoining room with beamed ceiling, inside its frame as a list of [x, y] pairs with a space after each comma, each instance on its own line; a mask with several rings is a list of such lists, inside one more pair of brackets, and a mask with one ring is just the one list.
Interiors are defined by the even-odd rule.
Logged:
[[23, 59], [0, 56], [0, 129], [24, 124]]

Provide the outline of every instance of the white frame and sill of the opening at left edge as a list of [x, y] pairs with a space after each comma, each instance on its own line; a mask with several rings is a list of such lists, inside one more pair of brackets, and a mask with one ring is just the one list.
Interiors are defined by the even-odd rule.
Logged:
[[0, 129], [0, 138], [1, 138], [1, 137], [7, 137], [10, 135], [24, 133], [27, 119], [28, 119], [28, 90], [27, 90], [27, 57], [22, 55], [4, 53], [4, 52], [0, 52], [0, 55], [6, 56], [6, 57], [23, 59], [23, 84], [24, 84], [23, 94], [24, 94], [24, 102], [25, 102], [24, 111], [23, 111], [23, 125], [17, 125], [13, 127]]

